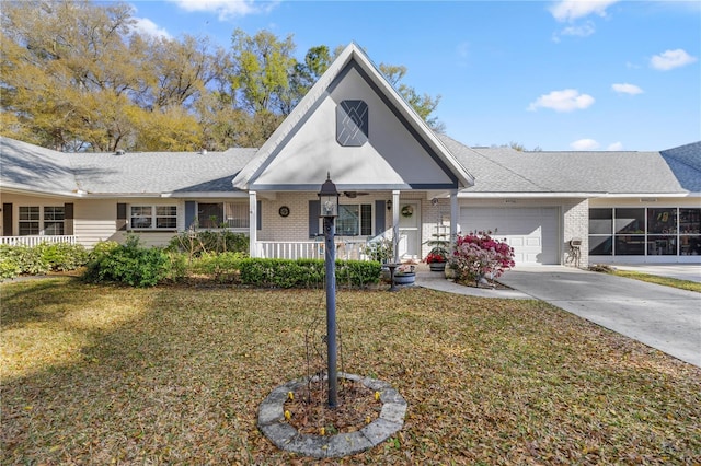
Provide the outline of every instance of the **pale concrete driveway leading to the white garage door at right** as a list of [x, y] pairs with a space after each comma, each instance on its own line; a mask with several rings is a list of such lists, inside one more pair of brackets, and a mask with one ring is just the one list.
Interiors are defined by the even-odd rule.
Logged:
[[562, 266], [517, 267], [499, 281], [701, 368], [701, 294]]

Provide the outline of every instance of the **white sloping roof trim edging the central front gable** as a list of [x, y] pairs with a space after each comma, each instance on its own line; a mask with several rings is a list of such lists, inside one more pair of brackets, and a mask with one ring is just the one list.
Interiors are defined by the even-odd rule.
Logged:
[[436, 154], [441, 162], [458, 178], [458, 187], [464, 188], [474, 185], [473, 176], [458, 162], [450, 153], [446, 145], [436, 137], [428, 125], [418, 116], [416, 112], [404, 101], [404, 98], [390, 85], [382, 73], [370, 61], [368, 56], [356, 44], [350, 43], [334, 60], [329, 69], [314, 83], [311, 90], [297, 104], [295, 109], [285, 118], [283, 124], [273, 132], [273, 135], [261, 147], [256, 155], [239, 172], [231, 182], [234, 188], [248, 190], [252, 183], [257, 179], [261, 172], [265, 168], [266, 162], [275, 152], [277, 147], [284, 143], [288, 135], [297, 127], [297, 124], [311, 112], [314, 104], [323, 98], [324, 93], [336, 79], [336, 77], [345, 69], [345, 67], [355, 60], [356, 63], [370, 77], [372, 82], [384, 93], [387, 98], [397, 106], [404, 118], [414, 127], [414, 129], [424, 138], [424, 140], [435, 149]]

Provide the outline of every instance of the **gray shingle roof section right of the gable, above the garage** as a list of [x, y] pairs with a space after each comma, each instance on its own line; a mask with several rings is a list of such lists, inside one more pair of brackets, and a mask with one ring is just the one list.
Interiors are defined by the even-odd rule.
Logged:
[[444, 143], [475, 177], [462, 193], [679, 194], [701, 191], [701, 142], [664, 152], [519, 152]]

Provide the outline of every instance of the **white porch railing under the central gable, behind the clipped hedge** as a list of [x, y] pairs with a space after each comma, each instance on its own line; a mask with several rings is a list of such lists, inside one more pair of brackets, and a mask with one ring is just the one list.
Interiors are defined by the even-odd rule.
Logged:
[[[365, 260], [365, 240], [336, 238], [336, 258]], [[276, 259], [323, 259], [325, 244], [320, 241], [258, 241], [257, 256]]]

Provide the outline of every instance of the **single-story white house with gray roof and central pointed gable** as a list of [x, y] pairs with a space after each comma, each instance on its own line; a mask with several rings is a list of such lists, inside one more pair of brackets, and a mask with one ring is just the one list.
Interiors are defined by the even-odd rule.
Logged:
[[320, 257], [318, 191], [336, 184], [340, 257], [398, 232], [398, 258], [435, 235], [490, 230], [518, 265], [701, 264], [701, 142], [662, 152], [518, 152], [434, 133], [348, 46], [260, 149], [60, 153], [0, 140], [1, 243], [93, 246], [188, 228], [251, 237], [251, 255]]

